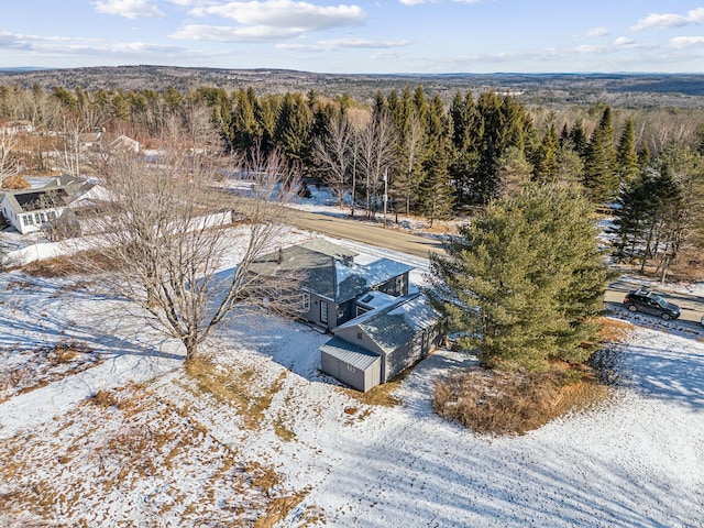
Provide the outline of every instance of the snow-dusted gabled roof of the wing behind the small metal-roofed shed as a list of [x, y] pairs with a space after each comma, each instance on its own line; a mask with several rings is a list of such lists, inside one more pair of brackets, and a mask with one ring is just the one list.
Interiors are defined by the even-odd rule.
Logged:
[[418, 333], [433, 327], [440, 314], [422, 294], [403, 297], [399, 302], [369, 311], [338, 327], [359, 327], [380, 349], [391, 353]]

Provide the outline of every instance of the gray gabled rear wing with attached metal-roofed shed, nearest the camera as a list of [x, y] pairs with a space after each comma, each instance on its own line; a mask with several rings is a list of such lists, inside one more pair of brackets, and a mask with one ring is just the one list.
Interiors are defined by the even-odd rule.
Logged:
[[322, 371], [362, 392], [393, 380], [442, 339], [440, 314], [421, 294], [372, 309], [332, 332], [320, 348]]

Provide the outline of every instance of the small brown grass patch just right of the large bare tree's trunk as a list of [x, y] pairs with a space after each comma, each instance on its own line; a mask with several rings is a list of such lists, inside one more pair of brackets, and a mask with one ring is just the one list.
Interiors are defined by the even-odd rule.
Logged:
[[207, 358], [196, 358], [186, 364], [186, 374], [196, 382], [200, 393], [212, 395], [221, 404], [234, 407], [248, 429], [258, 429], [272, 399], [282, 388], [286, 372], [273, 383], [256, 380], [255, 371], [231, 371]]

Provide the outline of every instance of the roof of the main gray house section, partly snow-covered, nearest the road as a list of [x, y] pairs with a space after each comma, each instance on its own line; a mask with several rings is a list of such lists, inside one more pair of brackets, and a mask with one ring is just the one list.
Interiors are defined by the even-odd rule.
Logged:
[[268, 276], [300, 271], [306, 274], [304, 289], [339, 305], [414, 268], [391, 258], [356, 264], [354, 256], [351, 250], [314, 239], [257, 258], [252, 271]]

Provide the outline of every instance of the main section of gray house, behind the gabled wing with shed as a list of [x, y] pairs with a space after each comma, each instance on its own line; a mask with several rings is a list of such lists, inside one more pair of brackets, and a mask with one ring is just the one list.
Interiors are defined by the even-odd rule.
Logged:
[[369, 310], [356, 300], [370, 292], [389, 297], [408, 295], [407, 264], [380, 258], [358, 264], [358, 253], [322, 239], [312, 239], [257, 258], [255, 274], [274, 276], [300, 272], [300, 317], [330, 331]]

